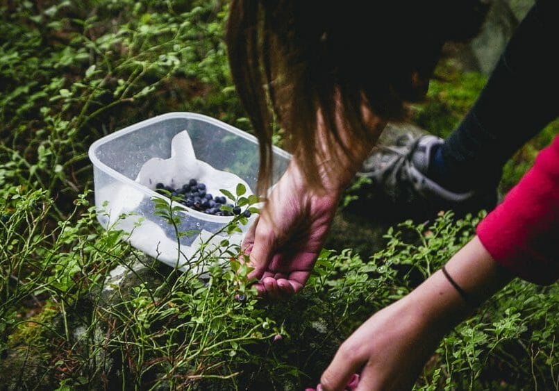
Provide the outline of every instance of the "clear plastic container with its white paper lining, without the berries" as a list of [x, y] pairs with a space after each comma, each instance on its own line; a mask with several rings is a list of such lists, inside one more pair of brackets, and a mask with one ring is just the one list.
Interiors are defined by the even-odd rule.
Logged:
[[[273, 153], [275, 183], [290, 155], [276, 147]], [[195, 178], [214, 197], [224, 195], [220, 189], [235, 194], [238, 183], [247, 188], [244, 197], [256, 188], [258, 141], [217, 119], [194, 113], [160, 115], [97, 140], [90, 160], [99, 222], [122, 229], [133, 247], [172, 267], [203, 272], [196, 264], [200, 245], [208, 242], [204, 251], [211, 251], [223, 240], [240, 244], [256, 218], [249, 217], [242, 233], [228, 235], [224, 227], [233, 217], [180, 206], [176, 228], [191, 234], [177, 238], [175, 227], [156, 213], [153, 197], [164, 197], [154, 191], [157, 183], [180, 188]]]

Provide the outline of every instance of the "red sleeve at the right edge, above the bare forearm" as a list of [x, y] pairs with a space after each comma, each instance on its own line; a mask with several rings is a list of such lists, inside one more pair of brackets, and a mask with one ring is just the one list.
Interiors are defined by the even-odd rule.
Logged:
[[547, 285], [559, 278], [559, 136], [477, 228], [494, 260]]

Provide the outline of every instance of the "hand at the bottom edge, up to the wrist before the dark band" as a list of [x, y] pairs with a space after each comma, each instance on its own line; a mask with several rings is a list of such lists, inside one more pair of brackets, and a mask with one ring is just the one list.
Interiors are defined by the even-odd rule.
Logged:
[[353, 390], [410, 390], [447, 328], [428, 328], [410, 300], [378, 311], [338, 349], [318, 390], [344, 390], [360, 372]]

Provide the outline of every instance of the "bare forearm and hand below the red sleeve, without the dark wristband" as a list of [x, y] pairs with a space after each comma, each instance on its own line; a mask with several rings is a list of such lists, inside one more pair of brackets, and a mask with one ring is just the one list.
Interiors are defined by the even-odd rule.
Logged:
[[[472, 302], [483, 302], [512, 278], [474, 237], [446, 265]], [[472, 304], [472, 303], [469, 303]], [[410, 390], [440, 340], [472, 309], [441, 271], [362, 324], [340, 347], [317, 390]]]

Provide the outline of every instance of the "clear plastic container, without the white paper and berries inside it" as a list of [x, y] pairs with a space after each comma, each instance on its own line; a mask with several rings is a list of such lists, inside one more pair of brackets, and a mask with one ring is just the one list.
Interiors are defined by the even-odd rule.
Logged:
[[[232, 172], [256, 192], [258, 178], [258, 140], [248, 133], [217, 119], [195, 113], [167, 113], [147, 119], [94, 142], [89, 149], [93, 163], [95, 205], [97, 218], [104, 228], [118, 228], [127, 233], [126, 239], [137, 249], [171, 266], [187, 267], [191, 256], [208, 233], [220, 233], [232, 217], [207, 215], [181, 206], [180, 232], [197, 231], [206, 235], [186, 235], [177, 240], [175, 227], [156, 215], [153, 197], [161, 197], [153, 188], [140, 185], [135, 179], [144, 163], [151, 158], [167, 159], [171, 140], [182, 131], [192, 140], [198, 160], [218, 170]], [[281, 177], [290, 154], [273, 148], [273, 183]], [[182, 210], [181, 210], [182, 211]], [[242, 240], [249, 224], [242, 226]], [[227, 237], [231, 239], [231, 237]]]

